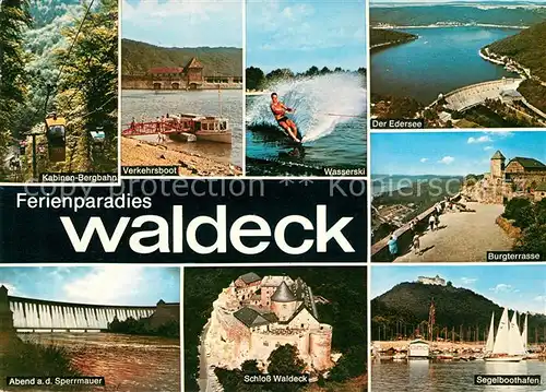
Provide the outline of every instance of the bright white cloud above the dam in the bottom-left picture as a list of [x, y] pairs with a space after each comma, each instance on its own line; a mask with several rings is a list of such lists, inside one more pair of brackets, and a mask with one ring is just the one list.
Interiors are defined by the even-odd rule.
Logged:
[[107, 265], [94, 268], [62, 287], [64, 300], [83, 304], [121, 304], [146, 287], [144, 268]]

